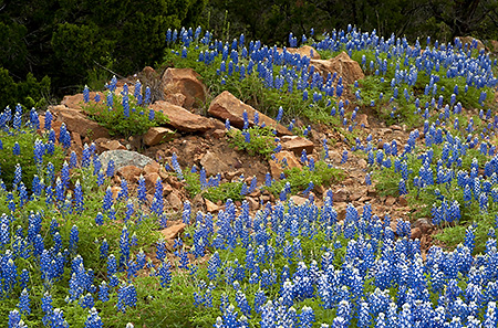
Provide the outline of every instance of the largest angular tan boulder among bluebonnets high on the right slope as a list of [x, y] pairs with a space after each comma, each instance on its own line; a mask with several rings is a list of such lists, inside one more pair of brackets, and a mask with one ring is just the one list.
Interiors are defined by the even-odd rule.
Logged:
[[353, 84], [355, 81], [365, 77], [360, 64], [353, 61], [345, 52], [341, 52], [330, 60], [311, 60], [311, 65], [321, 72], [323, 77], [326, 77], [329, 73], [338, 73], [338, 76], [342, 76], [344, 85]]

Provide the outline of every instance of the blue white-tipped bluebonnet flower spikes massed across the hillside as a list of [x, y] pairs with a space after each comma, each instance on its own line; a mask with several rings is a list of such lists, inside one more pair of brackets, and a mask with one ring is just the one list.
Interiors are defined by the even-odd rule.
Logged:
[[[187, 56], [191, 46], [208, 46], [198, 60], [209, 65], [221, 56], [217, 68], [220, 76], [236, 72], [245, 78], [256, 72], [267, 87], [283, 92], [287, 83], [287, 92], [301, 92], [303, 99], [308, 98], [309, 91], [317, 100], [330, 97], [330, 114], [339, 115], [349, 130], [355, 126], [357, 109], [346, 118], [349, 102], [339, 99], [349, 87], [343, 85], [341, 76], [334, 74], [323, 80], [309, 70], [307, 56], [286, 51], [279, 53], [260, 42], [250, 42], [246, 47], [243, 35], [231, 43], [212, 41], [210, 33], [200, 35], [200, 29], [184, 29], [179, 33], [168, 32], [167, 41], [181, 41], [180, 56]], [[291, 35], [290, 42], [293, 44], [297, 40]], [[406, 145], [385, 142], [381, 150], [373, 146], [378, 145], [378, 140], [373, 144], [369, 136], [364, 140], [366, 146], [356, 139], [351, 150], [365, 151], [372, 168], [392, 169], [398, 173], [400, 194], [414, 190], [424, 192], [437, 184], [442, 189], [440, 199], [434, 205], [428, 204], [433, 205], [435, 224], [458, 221], [463, 207], [471, 203], [477, 203], [483, 212], [489, 211], [492, 202], [498, 201], [498, 188], [495, 187], [498, 163], [494, 157], [495, 148], [486, 138], [494, 133], [498, 121], [490, 110], [486, 114], [481, 110], [479, 120], [486, 124], [477, 127], [469, 120], [460, 129], [457, 116], [464, 110], [457, 99], [465, 96], [467, 88], [496, 86], [492, 63], [487, 55], [480, 53], [473, 57], [471, 46], [466, 51], [458, 43], [435, 44], [422, 52], [418, 42], [412, 47], [405, 40], [384, 40], [375, 33], [360, 33], [352, 28], [325, 35], [313, 45], [319, 51], [344, 49], [350, 55], [371, 49], [375, 61], [366, 63], [365, 60], [362, 65], [370, 65], [374, 75], [387, 74], [390, 61], [405, 61], [403, 65], [411, 67], [395, 70], [391, 82], [392, 102], [398, 96], [397, 87], [414, 86], [423, 74], [430, 76], [424, 92], [426, 96], [444, 92], [437, 88], [439, 72], [447, 78], [464, 77], [467, 86], [464, 91], [455, 86], [455, 96], [446, 99], [447, 105], [440, 96], [437, 100], [428, 100], [425, 107], [421, 106], [421, 100], [411, 94], [413, 89], [405, 88], [406, 100], [413, 100], [415, 113], [426, 120], [423, 130], [409, 134]], [[110, 84], [111, 91], [115, 81]], [[135, 86], [138, 102], [142, 102], [141, 87]], [[87, 89], [84, 97], [89, 102]], [[143, 102], [147, 103], [148, 97], [146, 93]], [[356, 98], [360, 97], [361, 93], [356, 93]], [[478, 102], [484, 105], [486, 97], [483, 91]], [[106, 102], [112, 107], [113, 98], [107, 97]], [[125, 104], [123, 107], [126, 108]], [[34, 110], [24, 125], [20, 106], [13, 117], [6, 110], [0, 117], [2, 133], [13, 134], [21, 128], [29, 133], [40, 128]], [[25, 327], [24, 321], [68, 327], [70, 318], [62, 307], [84, 310], [82, 322], [86, 328], [103, 327], [105, 318], [100, 315], [103, 308], [115, 307], [125, 315], [129, 308], [143, 306], [134, 284], [141, 272], [148, 272], [151, 279], [157, 281], [162, 288], [168, 288], [175, 278], [174, 267], [195, 282], [196, 292], [189, 296], [191, 303], [199, 316], [206, 311], [216, 313], [217, 319], [210, 325], [218, 328], [498, 326], [498, 253], [492, 230], [497, 229], [496, 224], [489, 226], [489, 240], [483, 254], [473, 255], [473, 226], [467, 229], [463, 243], [454, 251], [432, 246], [423, 254], [419, 241], [409, 237], [409, 222], [378, 216], [381, 213], [374, 214], [370, 204], [363, 209], [349, 204], [345, 218], [339, 220], [331, 191], [324, 194], [323, 205], [319, 205], [312, 195], [304, 204], [295, 205], [286, 201], [289, 193], [286, 187], [280, 202], [267, 203], [256, 214], [250, 213], [248, 202], [237, 209], [228, 200], [216, 215], [194, 213], [190, 203], [186, 202], [180, 216], [188, 232], [183, 240], [175, 241], [173, 248], [177, 260], [167, 260], [166, 243], [158, 240], [154, 252], [157, 262], [153, 264], [137, 247], [137, 235], [132, 231], [151, 218], [157, 221], [157, 226], [166, 226], [162, 181], [156, 181], [151, 203], [142, 177], [136, 194], [129, 194], [123, 179], [121, 191], [114, 198], [107, 179], [114, 174], [114, 166], [110, 162], [106, 168], [102, 167], [95, 145], [85, 146], [80, 159], [74, 152], [69, 155], [70, 160], [61, 172], [54, 172], [44, 156], [52, 151], [55, 141], [68, 148], [71, 138], [65, 128], [61, 128], [55, 140], [48, 112], [43, 130], [50, 140], [39, 141], [34, 147], [32, 156], [39, 174], [31, 189], [28, 191], [22, 182], [19, 166], [13, 184], [2, 184], [0, 190], [6, 203], [0, 219], [0, 296], [14, 300], [8, 317], [3, 318], [9, 328]], [[424, 142], [417, 144], [422, 137]], [[323, 146], [326, 148], [326, 140]], [[467, 166], [466, 157], [473, 150], [486, 160], [471, 160]], [[19, 156], [22, 149], [13, 147], [10, 151], [12, 154], [8, 156]], [[347, 157], [349, 152], [344, 151], [340, 161], [345, 163]], [[411, 158], [419, 160], [416, 171]], [[305, 155], [304, 161], [313, 168], [314, 161]], [[170, 166], [181, 180], [184, 173], [176, 156]], [[71, 174], [76, 172], [83, 172], [81, 181], [72, 179]], [[203, 186], [214, 181], [206, 180], [205, 174], [199, 176]], [[365, 183], [369, 184], [367, 177]], [[461, 190], [461, 201], [447, 197], [444, 189], [450, 187]], [[310, 184], [305, 193], [312, 188]], [[98, 189], [100, 192], [95, 192]], [[438, 195], [436, 190], [434, 193]], [[102, 195], [97, 207], [90, 203], [95, 194]], [[84, 224], [89, 222], [82, 218], [91, 216], [94, 225], [90, 229], [117, 226], [120, 230], [116, 241], [97, 240], [100, 267], [89, 267], [89, 258], [80, 255], [83, 252], [80, 243], [85, 236], [80, 235], [82, 226], [77, 223], [69, 224], [74, 222], [69, 218], [75, 216]], [[185, 247], [186, 244], [190, 247]], [[197, 264], [197, 258], [204, 256], [209, 258], [207, 265]], [[59, 290], [60, 297], [60, 289], [54, 286], [63, 286], [66, 292], [64, 304], [59, 301], [54, 306], [55, 295], [52, 294]], [[154, 294], [154, 290], [149, 293]]]

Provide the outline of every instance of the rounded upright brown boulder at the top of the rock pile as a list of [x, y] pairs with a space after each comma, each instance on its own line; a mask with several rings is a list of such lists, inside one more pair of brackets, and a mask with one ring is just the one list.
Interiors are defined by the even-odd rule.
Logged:
[[191, 68], [167, 68], [162, 77], [165, 99], [172, 97], [173, 102], [177, 102], [176, 94], [183, 94], [183, 107], [201, 106], [206, 102], [206, 87], [197, 77], [198, 74]]

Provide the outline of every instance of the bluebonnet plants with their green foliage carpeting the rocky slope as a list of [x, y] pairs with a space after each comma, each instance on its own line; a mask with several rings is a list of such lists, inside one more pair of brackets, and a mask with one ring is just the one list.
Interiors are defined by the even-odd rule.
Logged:
[[[9, 148], [14, 159], [21, 152], [34, 158], [31, 189], [21, 165], [12, 189], [0, 183], [0, 316], [8, 327], [497, 327], [498, 165], [492, 137], [498, 118], [487, 103], [496, 87], [488, 55], [458, 43], [422, 52], [419, 44], [412, 47], [355, 29], [310, 40], [321, 52], [344, 49], [353, 59], [356, 51], [363, 52], [361, 59], [375, 56], [373, 64], [362, 63], [373, 74], [347, 86], [339, 76], [309, 75], [307, 57], [280, 54], [258, 41], [212, 41], [200, 29], [168, 32], [166, 40], [172, 46], [166, 60], [172, 55], [178, 65], [195, 65], [204, 78], [212, 78], [205, 80], [212, 88], [237, 89], [243, 85], [239, 81], [262, 85], [260, 97], [279, 95], [267, 113], [278, 120], [288, 115], [290, 130], [300, 128], [298, 118], [315, 115], [344, 135], [356, 131], [351, 150], [367, 159], [378, 192], [406, 195], [419, 210], [414, 215], [442, 226], [448, 247], [423, 252], [421, 242], [411, 239], [409, 221], [373, 213], [369, 203], [350, 203], [340, 218], [332, 191], [324, 193], [322, 204], [312, 195], [301, 205], [288, 201], [289, 194], [308, 197], [315, 184], [341, 180], [341, 170], [326, 161], [326, 140], [322, 158], [303, 154], [302, 169], [284, 170], [281, 179], [263, 183], [252, 178], [224, 186], [203, 168], [180, 168], [174, 155], [168, 174], [185, 182], [191, 194], [204, 192], [225, 207], [217, 214], [196, 213], [185, 202], [175, 214], [185, 231], [167, 244], [158, 233], [173, 219], [164, 212], [162, 180], [152, 200], [143, 177], [136, 192], [128, 192], [122, 180], [113, 195], [108, 178], [114, 166], [102, 166], [95, 145], [86, 145], [80, 158], [65, 154], [69, 160], [55, 170], [49, 162], [55, 145], [51, 138], [56, 138], [49, 112], [41, 129], [48, 141]], [[292, 36], [290, 44], [295, 42]], [[387, 68], [401, 59], [407, 71]], [[442, 65], [446, 77], [438, 80]], [[424, 72], [434, 83], [427, 84], [428, 98], [416, 94]], [[380, 93], [386, 92], [393, 100], [372, 104], [372, 98], [370, 106], [378, 106], [382, 118], [382, 110], [396, 104], [396, 113], [413, 115], [412, 123], [422, 125], [411, 130], [406, 144], [393, 140], [378, 147], [380, 140], [366, 136], [355, 119], [360, 107], [369, 106], [361, 102], [369, 93], [365, 85], [377, 78], [369, 82], [369, 76], [386, 80], [390, 74], [394, 86], [380, 85], [393, 95], [380, 88], [369, 97], [382, 99]], [[444, 78], [465, 78], [465, 93], [457, 95], [454, 88], [455, 97], [447, 97], [446, 87], [435, 84]], [[406, 102], [397, 102], [395, 89], [405, 84], [412, 87]], [[355, 102], [342, 97], [345, 88]], [[295, 107], [284, 107], [287, 100]], [[464, 102], [479, 114], [467, 115]], [[293, 115], [300, 117], [293, 120]], [[18, 134], [27, 126], [24, 134], [35, 136], [37, 113], [22, 117], [21, 107], [13, 117], [2, 114], [2, 133]], [[229, 123], [226, 127], [231, 129]], [[249, 151], [262, 148], [259, 140], [251, 144], [255, 139], [272, 137], [261, 126], [246, 127], [240, 136], [248, 145], [235, 142]], [[63, 128], [56, 141], [71, 141]], [[274, 136], [272, 142], [272, 151], [262, 156], [280, 151]], [[59, 151], [68, 152], [64, 148]], [[347, 161], [347, 151], [341, 161]], [[245, 194], [256, 188], [278, 193], [280, 201], [251, 213]]]

